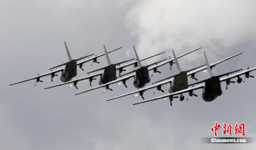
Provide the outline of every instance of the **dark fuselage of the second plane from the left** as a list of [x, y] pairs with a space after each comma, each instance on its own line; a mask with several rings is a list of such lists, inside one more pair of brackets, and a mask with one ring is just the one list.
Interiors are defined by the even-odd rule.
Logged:
[[116, 65], [111, 64], [105, 67], [102, 75], [100, 76], [99, 85], [116, 80]]

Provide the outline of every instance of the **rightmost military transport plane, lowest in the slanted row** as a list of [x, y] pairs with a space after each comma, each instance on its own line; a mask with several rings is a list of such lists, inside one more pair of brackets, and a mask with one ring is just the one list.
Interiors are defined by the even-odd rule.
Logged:
[[[189, 96], [196, 96], [197, 97], [198, 95], [193, 93], [193, 91], [197, 90], [197, 89], [203, 89], [201, 97], [204, 101], [213, 101], [218, 96], [220, 96], [222, 94], [221, 82], [224, 82], [224, 81], [226, 82], [226, 89], [227, 89], [227, 85], [229, 85], [230, 83], [235, 83], [234, 81], [230, 81], [233, 78], [237, 78], [237, 83], [241, 83], [242, 78], [240, 77], [240, 75], [245, 75], [245, 78], [250, 78], [250, 77], [254, 78], [254, 76], [250, 75], [250, 72], [256, 70], [256, 67], [254, 67], [252, 69], [249, 69], [249, 67], [248, 67], [247, 70], [235, 73], [233, 75], [229, 75], [229, 74], [240, 71], [241, 69], [233, 71], [233, 72], [228, 72], [228, 73], [225, 73], [223, 75], [214, 76], [212, 74], [212, 70], [211, 70], [211, 67], [209, 65], [209, 62], [208, 62], [208, 59], [207, 59], [207, 56], [206, 56], [205, 52], [204, 52], [204, 56], [205, 56], [205, 60], [206, 60], [206, 63], [207, 63], [207, 69], [209, 71], [210, 78], [208, 78], [204, 81], [200, 81], [198, 83], [195, 83], [195, 84], [200, 84], [200, 85], [197, 85], [197, 86], [194, 87], [195, 84], [190, 84], [189, 86], [193, 86], [193, 87], [190, 87], [188, 89], [183, 89], [183, 90], [180, 90], [180, 91], [177, 91], [177, 92], [173, 92], [173, 93], [170, 93], [170, 94], [166, 94], [166, 95], [163, 95], [163, 96], [160, 96], [160, 97], [157, 97], [157, 98], [151, 98], [151, 99], [148, 99], [148, 100], [145, 100], [145, 101], [140, 101], [140, 102], [134, 103], [133, 105], [145, 103], [145, 102], [148, 102], [148, 101], [155, 101], [157, 99], [162, 99], [162, 98], [169, 98], [170, 101], [171, 101], [172, 98], [178, 98], [178, 96], [175, 96], [175, 95], [180, 95], [180, 101], [183, 101], [183, 99], [184, 99], [184, 96], [182, 95], [183, 93], [188, 92]], [[224, 77], [224, 76], [226, 76], [226, 77]], [[245, 82], [245, 78], [244, 78], [244, 82]], [[204, 83], [204, 84], [201, 84], [201, 83]], [[188, 98], [186, 100], [188, 100]], [[171, 105], [172, 105], [172, 103], [171, 103]]]

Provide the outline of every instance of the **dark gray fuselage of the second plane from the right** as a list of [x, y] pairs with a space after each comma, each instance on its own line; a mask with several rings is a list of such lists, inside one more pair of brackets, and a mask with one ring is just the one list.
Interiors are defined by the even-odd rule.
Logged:
[[188, 88], [188, 76], [187, 72], [183, 71], [174, 75], [173, 80], [170, 84], [168, 84], [168, 92], [177, 92], [183, 89]]

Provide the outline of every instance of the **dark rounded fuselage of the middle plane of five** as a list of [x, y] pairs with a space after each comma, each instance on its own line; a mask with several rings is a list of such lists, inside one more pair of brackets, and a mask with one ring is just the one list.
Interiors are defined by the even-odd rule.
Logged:
[[142, 88], [151, 80], [148, 67], [142, 66], [135, 72], [134, 87]]

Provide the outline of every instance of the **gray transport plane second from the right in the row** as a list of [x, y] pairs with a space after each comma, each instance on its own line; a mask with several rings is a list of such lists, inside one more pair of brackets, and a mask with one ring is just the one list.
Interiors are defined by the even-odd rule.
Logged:
[[[124, 96], [127, 96], [127, 95], [132, 95], [132, 94], [135, 94], [135, 93], [138, 93], [138, 94], [134, 95], [134, 97], [137, 97], [138, 95], [140, 95], [144, 99], [143, 93], [148, 89], [156, 88], [156, 90], [154, 91], [154, 94], [157, 91], [164, 92], [163, 89], [161, 88], [164, 84], [168, 84], [168, 92], [169, 93], [173, 93], [173, 92], [177, 92], [177, 91], [180, 91], [180, 90], [183, 90], [183, 89], [187, 89], [188, 88], [188, 80], [190, 78], [197, 80], [195, 78], [195, 73], [198, 73], [198, 72], [201, 72], [201, 71], [204, 71], [205, 69], [207, 69], [206, 65], [202, 65], [202, 66], [198, 66], [196, 68], [193, 68], [193, 69], [190, 69], [190, 70], [187, 70], [187, 71], [182, 71], [180, 69], [179, 62], [177, 61], [177, 58], [176, 58], [176, 55], [175, 55], [175, 52], [173, 51], [173, 49], [172, 49], [172, 52], [173, 52], [173, 56], [174, 56], [174, 59], [175, 59], [175, 64], [177, 66], [177, 71], [178, 71], [176, 75], [172, 75], [172, 76], [170, 76], [168, 78], [165, 78], [163, 80], [154, 82], [153, 83], [154, 85], [151, 85], [149, 87], [145, 87], [145, 88], [133, 91], [133, 92], [129, 92], [129, 93], [126, 93], [124, 95], [120, 95], [120, 96], [117, 96], [117, 97], [114, 97], [114, 98], [110, 98], [107, 101], [111, 101], [111, 100], [121, 98], [121, 97], [124, 97]], [[229, 60], [233, 57], [236, 57], [238, 55], [241, 55], [241, 54], [242, 54], [242, 52], [240, 52], [239, 54], [230, 56], [228, 58], [225, 58], [221, 61], [217, 61], [215, 63], [212, 63], [212, 64], [210, 64], [210, 68], [216, 66], [217, 64], [219, 64], [221, 62], [227, 61], [227, 60]], [[189, 79], [188, 79], [188, 76], [190, 76]], [[183, 99], [184, 99], [184, 96], [181, 95], [180, 96], [180, 101], [183, 101]], [[170, 98], [170, 102], [171, 102], [171, 105], [172, 105], [172, 98]]]

